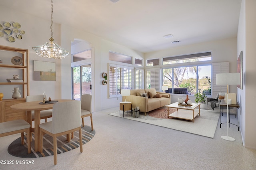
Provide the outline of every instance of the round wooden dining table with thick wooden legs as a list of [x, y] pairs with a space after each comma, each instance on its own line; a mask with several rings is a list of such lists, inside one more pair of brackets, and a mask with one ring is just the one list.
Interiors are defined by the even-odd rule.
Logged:
[[[58, 99], [52, 100], [52, 102], [42, 103], [42, 101], [31, 101], [25, 103], [18, 103], [15, 105], [10, 106], [11, 109], [19, 110], [19, 111], [26, 111], [26, 121], [30, 123], [31, 128], [30, 132], [34, 131], [34, 150], [38, 152], [40, 150], [40, 111], [52, 109], [53, 105], [58, 102], [67, 102], [73, 101], [71, 99]], [[32, 128], [32, 111], [34, 111], [34, 128]], [[32, 135], [30, 135], [32, 136]]]

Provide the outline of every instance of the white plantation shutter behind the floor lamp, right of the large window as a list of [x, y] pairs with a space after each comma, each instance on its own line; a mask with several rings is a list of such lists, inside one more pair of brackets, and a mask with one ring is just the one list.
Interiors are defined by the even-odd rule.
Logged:
[[219, 92], [227, 92], [227, 85], [216, 85], [216, 74], [218, 73], [229, 73], [229, 62], [212, 63], [212, 97]]

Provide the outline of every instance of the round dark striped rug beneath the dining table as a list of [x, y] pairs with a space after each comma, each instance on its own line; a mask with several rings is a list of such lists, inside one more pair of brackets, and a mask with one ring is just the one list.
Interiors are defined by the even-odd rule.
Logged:
[[[95, 130], [92, 131], [92, 128], [89, 126], [82, 127], [82, 142], [86, 144], [95, 135]], [[24, 135], [26, 139], [26, 135]], [[74, 138], [68, 142], [66, 140], [66, 135], [57, 137], [57, 153], [68, 152], [69, 150], [79, 148], [79, 132], [74, 132]], [[43, 136], [43, 152], [35, 152], [34, 151], [34, 133], [32, 133], [32, 142], [31, 142], [31, 154], [28, 154], [28, 145], [25, 142], [24, 145], [20, 144], [20, 138], [14, 140], [9, 147], [8, 152], [12, 156], [20, 157], [20, 158], [39, 158], [45, 156], [52, 156], [53, 155], [53, 138], [48, 134]], [[79, 150], [80, 152], [80, 150]]]

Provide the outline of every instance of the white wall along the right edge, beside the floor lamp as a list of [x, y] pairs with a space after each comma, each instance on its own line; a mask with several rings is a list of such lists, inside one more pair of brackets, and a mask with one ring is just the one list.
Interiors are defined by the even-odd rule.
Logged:
[[240, 104], [240, 129], [245, 147], [256, 149], [256, 1], [242, 0], [238, 36], [237, 56], [243, 51], [243, 89], [237, 89]]

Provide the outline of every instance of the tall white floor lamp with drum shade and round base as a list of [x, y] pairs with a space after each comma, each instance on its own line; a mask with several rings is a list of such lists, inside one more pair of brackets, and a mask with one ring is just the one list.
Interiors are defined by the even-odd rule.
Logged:
[[222, 139], [234, 141], [235, 139], [228, 136], [228, 85], [238, 85], [240, 84], [240, 73], [220, 73], [216, 74], [216, 85], [227, 85], [227, 136], [221, 136]]

